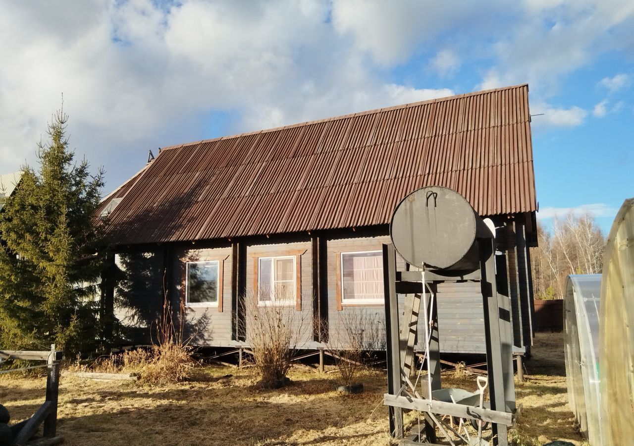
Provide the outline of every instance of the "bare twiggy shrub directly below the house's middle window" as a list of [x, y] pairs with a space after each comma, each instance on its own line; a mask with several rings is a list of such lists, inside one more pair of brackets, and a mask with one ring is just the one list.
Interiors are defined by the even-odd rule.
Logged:
[[[285, 295], [287, 299], [283, 298]], [[282, 290], [276, 296], [277, 302], [285, 303], [261, 302], [253, 293], [244, 299], [243, 332], [264, 388], [279, 388], [288, 382], [286, 374], [295, 351], [306, 343], [311, 329], [304, 323], [305, 313], [295, 310], [295, 296]]]

